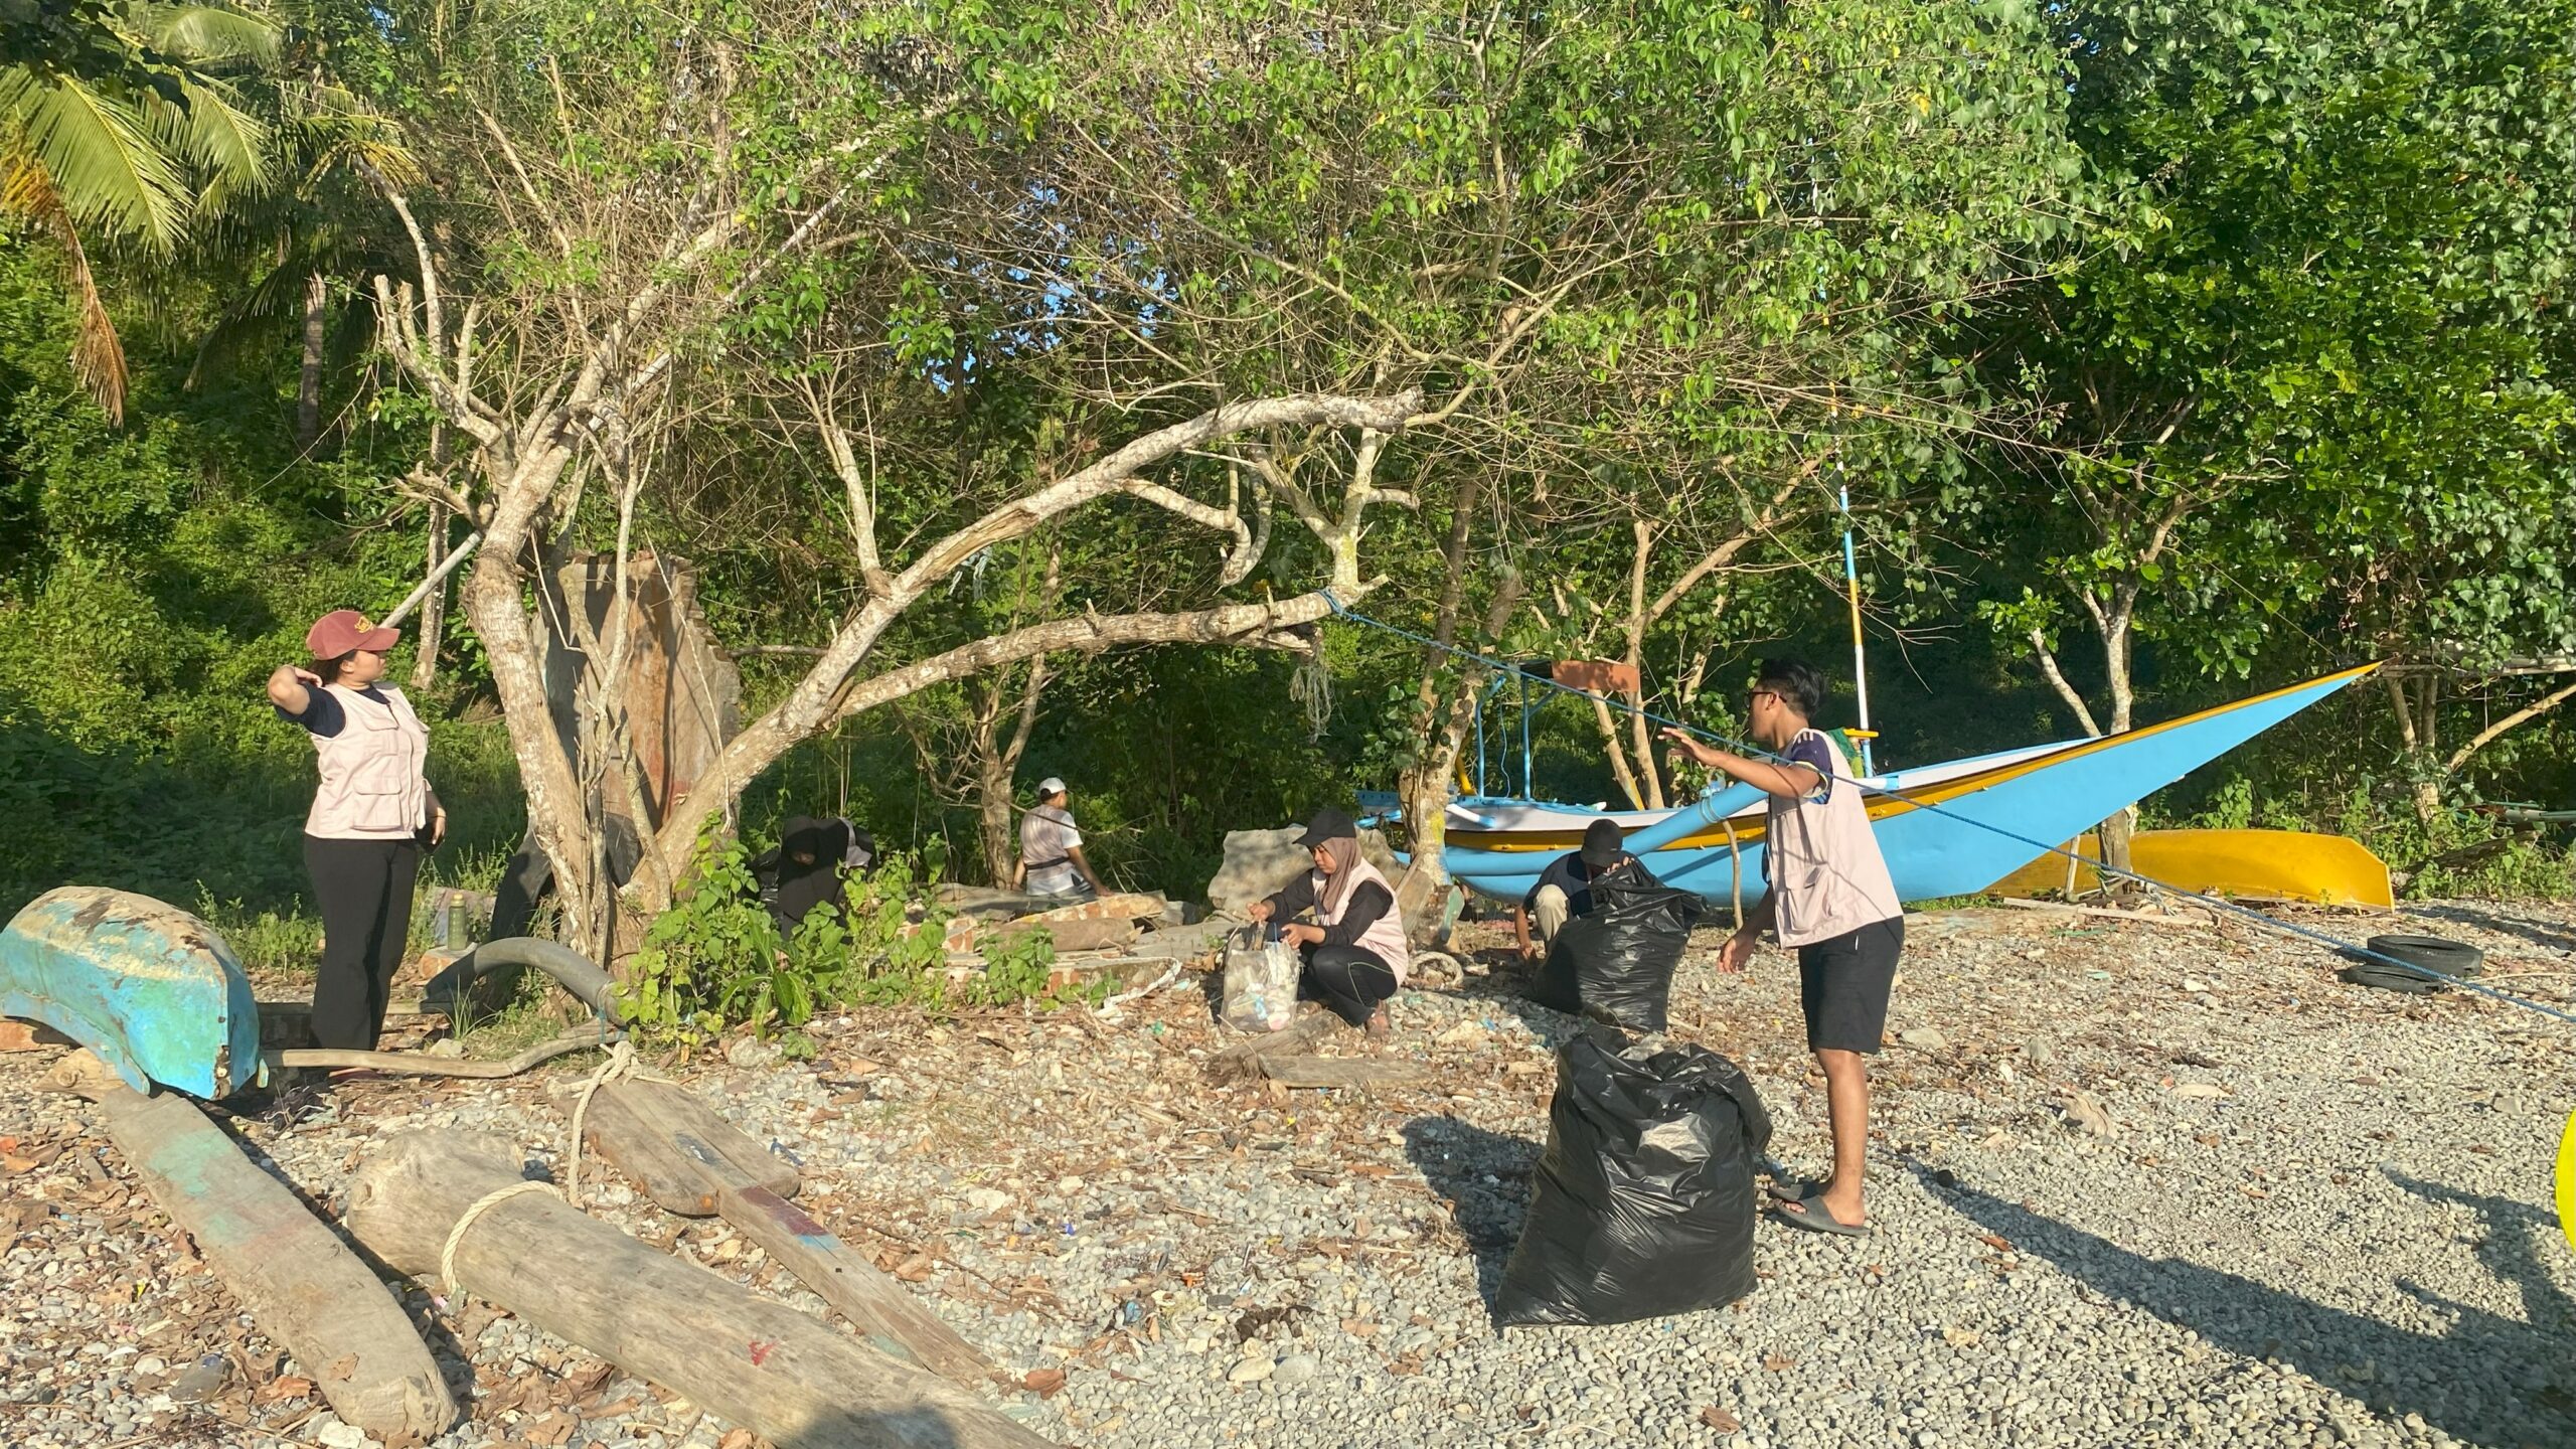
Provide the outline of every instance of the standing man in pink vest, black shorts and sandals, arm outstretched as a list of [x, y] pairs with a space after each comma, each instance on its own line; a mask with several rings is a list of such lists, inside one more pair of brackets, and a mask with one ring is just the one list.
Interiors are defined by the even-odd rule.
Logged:
[[1721, 972], [1741, 972], [1765, 928], [1798, 951], [1798, 1006], [1806, 1011], [1806, 1049], [1824, 1067], [1824, 1109], [1834, 1127], [1834, 1176], [1816, 1183], [1772, 1183], [1780, 1220], [1814, 1232], [1860, 1238], [1868, 1212], [1860, 1178], [1870, 1145], [1870, 1070], [1888, 1026], [1896, 954], [1906, 944], [1906, 913], [1888, 879], [1888, 861], [1870, 833], [1870, 810], [1842, 750], [1814, 727], [1826, 683], [1803, 660], [1762, 660], [1747, 724], [1754, 743], [1775, 750], [1747, 761], [1713, 750], [1680, 730], [1664, 730], [1682, 755], [1770, 792], [1762, 874], [1770, 892], [1747, 913], [1726, 949]]

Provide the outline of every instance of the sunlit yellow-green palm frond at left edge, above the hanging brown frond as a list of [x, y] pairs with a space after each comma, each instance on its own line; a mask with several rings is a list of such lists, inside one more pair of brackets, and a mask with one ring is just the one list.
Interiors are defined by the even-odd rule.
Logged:
[[82, 229], [124, 235], [167, 255], [188, 224], [188, 183], [126, 106], [72, 75], [0, 70], [0, 116], [44, 165], [62, 211]]

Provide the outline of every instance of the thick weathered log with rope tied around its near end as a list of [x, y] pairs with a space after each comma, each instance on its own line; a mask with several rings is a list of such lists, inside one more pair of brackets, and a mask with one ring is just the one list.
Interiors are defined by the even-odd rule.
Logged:
[[[466, 1209], [518, 1181], [505, 1137], [402, 1137], [361, 1171], [348, 1230], [407, 1274], [438, 1274]], [[551, 1194], [487, 1207], [456, 1243], [456, 1284], [783, 1449], [1046, 1444], [938, 1374], [657, 1253]]]

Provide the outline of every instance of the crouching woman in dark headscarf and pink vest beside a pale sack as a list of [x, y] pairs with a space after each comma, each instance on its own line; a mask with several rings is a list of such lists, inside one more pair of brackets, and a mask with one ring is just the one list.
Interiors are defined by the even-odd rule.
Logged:
[[1314, 853], [1314, 871], [1255, 902], [1252, 918], [1288, 920], [1314, 913], [1311, 926], [1303, 920], [1280, 926], [1280, 941], [1306, 957], [1298, 985], [1342, 1021], [1365, 1026], [1370, 1036], [1386, 1036], [1386, 998], [1396, 995], [1412, 967], [1396, 887], [1360, 856], [1360, 828], [1340, 810], [1316, 812], [1298, 846]]

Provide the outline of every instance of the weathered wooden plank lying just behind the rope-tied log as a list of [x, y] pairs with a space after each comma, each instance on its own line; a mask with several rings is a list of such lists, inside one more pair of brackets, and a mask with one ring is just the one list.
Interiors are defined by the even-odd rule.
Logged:
[[[611, 1096], [618, 1104], [603, 1114]], [[608, 1083], [590, 1098], [582, 1127], [582, 1137], [667, 1212], [724, 1217], [860, 1333], [894, 1343], [899, 1359], [966, 1385], [992, 1374], [992, 1364], [902, 1284], [786, 1201], [786, 1191], [796, 1191], [793, 1168], [688, 1091]]]

